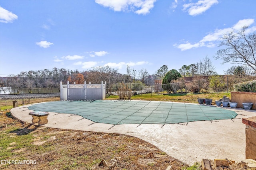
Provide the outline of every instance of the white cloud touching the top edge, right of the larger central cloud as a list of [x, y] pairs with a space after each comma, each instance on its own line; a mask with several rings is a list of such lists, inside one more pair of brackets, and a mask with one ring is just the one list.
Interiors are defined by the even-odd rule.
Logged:
[[196, 3], [184, 4], [183, 10], [188, 11], [191, 16], [196, 16], [206, 12], [214, 4], [218, 4], [218, 0], [198, 0]]

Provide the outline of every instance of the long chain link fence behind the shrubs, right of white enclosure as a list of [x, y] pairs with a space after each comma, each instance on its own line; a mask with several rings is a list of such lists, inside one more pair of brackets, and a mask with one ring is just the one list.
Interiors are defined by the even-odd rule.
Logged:
[[[108, 94], [118, 95], [118, 91], [122, 86], [126, 86], [126, 90], [132, 91], [133, 95], [141, 95], [151, 93], [152, 95], [169, 94], [169, 93], [229, 93], [234, 91], [235, 84], [256, 80], [256, 74], [246, 75], [214, 75], [214, 76], [194, 76], [190, 81], [184, 78], [173, 80], [170, 84], [157, 83], [118, 83], [110, 84]], [[159, 81], [159, 80], [158, 80]], [[255, 89], [255, 84], [245, 88], [248, 90]]]

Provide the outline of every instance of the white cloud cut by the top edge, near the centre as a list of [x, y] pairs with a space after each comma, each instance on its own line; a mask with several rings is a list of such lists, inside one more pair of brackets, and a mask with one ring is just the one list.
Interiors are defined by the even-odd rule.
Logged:
[[156, 0], [95, 0], [95, 2], [114, 11], [134, 11], [136, 14], [146, 15], [154, 7]]

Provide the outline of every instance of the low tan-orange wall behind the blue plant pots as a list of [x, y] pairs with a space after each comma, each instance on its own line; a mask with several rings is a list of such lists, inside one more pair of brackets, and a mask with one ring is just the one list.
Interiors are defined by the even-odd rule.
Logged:
[[236, 102], [238, 108], [243, 108], [242, 103], [253, 103], [252, 109], [256, 110], [256, 93], [253, 92], [231, 92], [231, 102]]

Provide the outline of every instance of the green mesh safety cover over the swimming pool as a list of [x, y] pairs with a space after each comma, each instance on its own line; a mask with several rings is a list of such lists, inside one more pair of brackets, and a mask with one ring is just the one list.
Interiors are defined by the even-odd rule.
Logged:
[[80, 115], [97, 123], [169, 124], [202, 120], [233, 119], [237, 113], [215, 106], [155, 101], [58, 101], [35, 104], [34, 111]]

